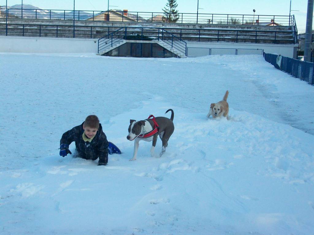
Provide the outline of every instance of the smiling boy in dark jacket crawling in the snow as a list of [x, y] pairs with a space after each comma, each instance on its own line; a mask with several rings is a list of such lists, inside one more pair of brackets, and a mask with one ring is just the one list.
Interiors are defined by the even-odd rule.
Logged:
[[108, 150], [110, 154], [119, 153], [116, 150], [118, 148], [114, 149], [114, 152], [112, 152], [112, 148], [108, 149], [107, 137], [95, 115], [89, 115], [81, 125], [63, 133], [60, 140], [60, 156], [64, 157], [68, 153], [72, 154], [69, 145], [73, 141], [75, 141], [76, 157], [92, 160], [99, 158], [99, 166], [107, 165]]

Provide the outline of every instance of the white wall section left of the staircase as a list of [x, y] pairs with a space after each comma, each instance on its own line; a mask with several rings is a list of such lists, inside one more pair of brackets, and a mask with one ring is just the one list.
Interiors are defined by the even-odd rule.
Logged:
[[97, 53], [98, 39], [0, 36], [0, 52]]

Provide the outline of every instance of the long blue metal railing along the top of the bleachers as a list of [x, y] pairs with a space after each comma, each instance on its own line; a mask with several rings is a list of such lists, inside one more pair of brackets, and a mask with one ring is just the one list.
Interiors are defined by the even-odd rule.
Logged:
[[93, 20], [93, 21], [122, 21], [122, 22], [154, 22], [177, 24], [251, 24], [266, 25], [275, 22], [279, 25], [290, 26], [291, 16], [286, 15], [244, 15], [244, 14], [215, 14], [215, 13], [177, 13], [177, 19], [171, 20], [172, 13], [164, 12], [128, 12], [114, 11], [108, 19], [107, 11], [85, 10], [53, 10], [4, 8], [8, 18], [48, 19], [48, 20]]

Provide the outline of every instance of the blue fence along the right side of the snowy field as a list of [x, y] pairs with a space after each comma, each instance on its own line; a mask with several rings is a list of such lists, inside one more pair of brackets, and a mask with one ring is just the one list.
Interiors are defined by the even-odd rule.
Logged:
[[[291, 74], [300, 80], [306, 81], [307, 83], [314, 85], [313, 79], [313, 65], [314, 63], [292, 59], [281, 55], [273, 55], [264, 53], [264, 58], [267, 62], [275, 66], [275, 68]], [[281, 62], [280, 61], [281, 57]], [[278, 62], [278, 63], [277, 63]]]

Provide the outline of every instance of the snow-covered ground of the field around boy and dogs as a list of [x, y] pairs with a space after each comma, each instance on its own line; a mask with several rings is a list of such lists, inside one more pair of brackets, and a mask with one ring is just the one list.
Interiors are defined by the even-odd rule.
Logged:
[[[314, 87], [262, 56], [2, 53], [0, 81], [0, 234], [314, 233]], [[206, 118], [226, 90], [230, 120]], [[129, 120], [168, 108], [165, 154], [130, 162]], [[59, 156], [89, 114], [107, 166]]]

